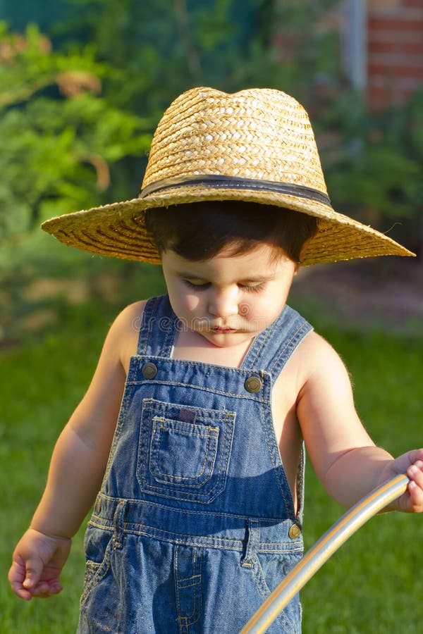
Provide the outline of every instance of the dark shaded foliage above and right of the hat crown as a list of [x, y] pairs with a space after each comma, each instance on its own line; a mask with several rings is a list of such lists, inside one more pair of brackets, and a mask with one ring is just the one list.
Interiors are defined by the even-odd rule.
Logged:
[[99, 59], [121, 69], [126, 81], [115, 73], [106, 87], [120, 106], [142, 104], [157, 120], [192, 85], [286, 90], [312, 114], [336, 208], [382, 230], [407, 219], [403, 237], [418, 246], [422, 96], [386, 113], [366, 110], [341, 66], [338, 0], [250, 0], [242, 11], [233, 0], [125, 0], [118, 13], [113, 0], [69, 1], [79, 19], [66, 37], [83, 33]]

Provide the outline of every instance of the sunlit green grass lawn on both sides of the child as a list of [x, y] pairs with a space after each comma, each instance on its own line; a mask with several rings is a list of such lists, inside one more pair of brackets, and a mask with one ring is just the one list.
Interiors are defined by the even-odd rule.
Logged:
[[[23, 602], [9, 590], [6, 572], [42, 493], [55, 439], [87, 387], [112, 318], [103, 307], [68, 309], [54, 332], [0, 357], [1, 634], [75, 631], [83, 530], [63, 571], [61, 595]], [[320, 330], [350, 368], [357, 409], [374, 440], [393, 454], [422, 445], [423, 337]], [[311, 468], [306, 486], [308, 548], [343, 509], [329, 499]], [[422, 520], [378, 516], [351, 537], [302, 591], [304, 632], [421, 632]]]

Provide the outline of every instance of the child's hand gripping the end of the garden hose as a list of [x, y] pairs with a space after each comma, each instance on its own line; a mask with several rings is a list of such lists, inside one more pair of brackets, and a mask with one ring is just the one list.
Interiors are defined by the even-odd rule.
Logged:
[[399, 456], [383, 472], [383, 479], [393, 478], [398, 473], [406, 473], [410, 478], [407, 490], [388, 509], [405, 513], [423, 512], [423, 449], [415, 449]]

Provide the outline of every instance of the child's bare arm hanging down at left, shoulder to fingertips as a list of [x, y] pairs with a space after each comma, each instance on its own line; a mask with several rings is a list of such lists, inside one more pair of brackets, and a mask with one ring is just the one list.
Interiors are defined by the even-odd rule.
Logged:
[[[47, 485], [13, 553], [9, 581], [23, 599], [60, 592], [59, 575], [102, 483], [125, 385], [123, 359], [133, 335], [128, 306], [111, 326], [92, 383], [59, 436]], [[132, 332], [131, 332], [132, 331]], [[130, 335], [128, 335], [128, 332]]]

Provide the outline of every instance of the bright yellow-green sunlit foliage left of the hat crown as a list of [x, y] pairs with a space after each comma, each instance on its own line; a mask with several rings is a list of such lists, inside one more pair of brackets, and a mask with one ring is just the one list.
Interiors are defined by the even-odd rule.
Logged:
[[63, 54], [35, 25], [0, 25], [1, 238], [101, 203], [110, 167], [147, 151], [146, 120], [102, 97], [106, 71], [92, 47]]

